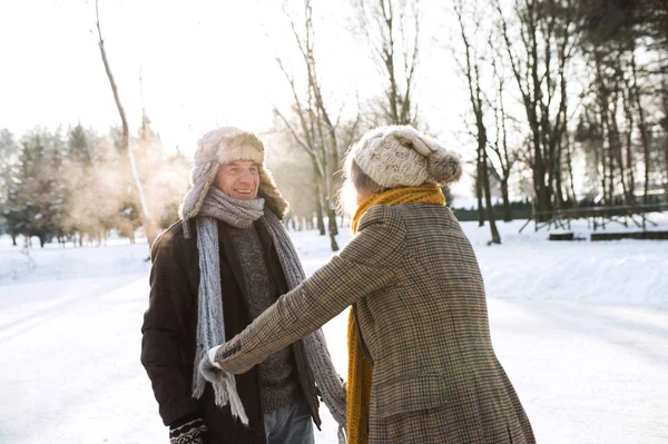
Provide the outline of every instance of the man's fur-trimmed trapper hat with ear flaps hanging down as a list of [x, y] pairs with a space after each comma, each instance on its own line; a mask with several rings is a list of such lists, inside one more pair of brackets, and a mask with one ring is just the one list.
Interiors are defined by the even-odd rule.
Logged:
[[252, 160], [259, 167], [259, 195], [278, 217], [287, 213], [287, 200], [281, 195], [272, 172], [265, 166], [265, 149], [252, 132], [234, 127], [214, 129], [197, 141], [194, 167], [190, 171], [190, 189], [180, 207], [179, 216], [187, 223], [197, 216], [209, 188], [216, 180], [218, 168], [235, 160]]

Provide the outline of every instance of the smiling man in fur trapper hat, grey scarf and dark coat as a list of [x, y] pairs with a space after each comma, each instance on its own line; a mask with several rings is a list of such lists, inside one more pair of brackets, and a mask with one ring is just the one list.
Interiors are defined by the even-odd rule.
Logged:
[[279, 221], [287, 201], [264, 161], [250, 132], [205, 135], [181, 220], [151, 251], [141, 363], [173, 444], [313, 443], [318, 394], [345, 425], [345, 392], [320, 330], [238, 376], [199, 368], [304, 279]]

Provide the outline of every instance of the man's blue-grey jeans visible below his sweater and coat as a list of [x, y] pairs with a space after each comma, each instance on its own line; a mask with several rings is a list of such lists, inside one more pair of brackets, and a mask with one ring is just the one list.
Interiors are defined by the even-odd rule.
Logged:
[[267, 444], [315, 444], [311, 410], [305, 402], [265, 413]]

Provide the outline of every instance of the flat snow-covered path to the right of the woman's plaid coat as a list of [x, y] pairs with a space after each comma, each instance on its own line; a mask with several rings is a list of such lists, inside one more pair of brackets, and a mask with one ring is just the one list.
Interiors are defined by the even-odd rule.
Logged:
[[668, 315], [490, 299], [492, 338], [539, 443], [667, 443]]

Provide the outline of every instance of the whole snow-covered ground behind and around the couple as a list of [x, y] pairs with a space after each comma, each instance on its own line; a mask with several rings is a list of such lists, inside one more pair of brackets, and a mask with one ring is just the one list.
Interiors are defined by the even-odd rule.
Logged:
[[[503, 245], [489, 247], [489, 228], [463, 224], [538, 442], [668, 443], [668, 241], [550, 243], [521, 225], [500, 224]], [[331, 255], [315, 233], [294, 239], [308, 274]], [[26, 255], [0, 238], [0, 443], [168, 442], [139, 363], [147, 256], [122, 241]], [[346, 316], [325, 326], [342, 375]], [[335, 443], [323, 413], [316, 441]]]

